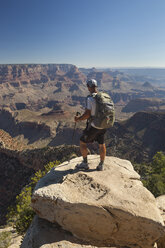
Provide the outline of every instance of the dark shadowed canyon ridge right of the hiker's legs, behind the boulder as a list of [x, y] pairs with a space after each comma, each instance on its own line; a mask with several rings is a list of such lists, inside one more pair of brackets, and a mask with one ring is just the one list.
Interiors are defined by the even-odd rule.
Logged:
[[165, 114], [138, 112], [107, 132], [107, 154], [138, 163], [165, 151]]

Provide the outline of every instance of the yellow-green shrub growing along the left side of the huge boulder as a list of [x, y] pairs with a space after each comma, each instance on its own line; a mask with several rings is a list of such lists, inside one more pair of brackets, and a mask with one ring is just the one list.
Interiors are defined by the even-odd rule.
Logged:
[[31, 177], [31, 182], [26, 185], [16, 197], [16, 204], [9, 208], [7, 221], [12, 224], [18, 234], [24, 234], [31, 224], [35, 215], [31, 208], [31, 196], [36, 183], [45, 176], [53, 167], [59, 165], [59, 161], [48, 163], [43, 170], [37, 171]]

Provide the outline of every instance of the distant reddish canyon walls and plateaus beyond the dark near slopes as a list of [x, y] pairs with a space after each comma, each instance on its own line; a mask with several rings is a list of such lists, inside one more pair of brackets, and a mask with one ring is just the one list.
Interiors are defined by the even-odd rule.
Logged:
[[[0, 65], [0, 129], [29, 148], [71, 144], [74, 115], [84, 111], [89, 78], [112, 97], [116, 121], [137, 111], [164, 110], [164, 88], [133, 81], [132, 74], [119, 70], [71, 64]], [[84, 126], [78, 125], [75, 144]]]

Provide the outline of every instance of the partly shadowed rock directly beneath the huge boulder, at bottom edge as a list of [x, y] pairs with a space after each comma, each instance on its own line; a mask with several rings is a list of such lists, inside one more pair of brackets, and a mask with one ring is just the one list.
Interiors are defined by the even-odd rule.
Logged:
[[[74, 237], [58, 224], [50, 223], [37, 216], [28, 229], [21, 248], [97, 248]], [[108, 247], [102, 247], [108, 248]], [[115, 248], [115, 247], [111, 247]]]

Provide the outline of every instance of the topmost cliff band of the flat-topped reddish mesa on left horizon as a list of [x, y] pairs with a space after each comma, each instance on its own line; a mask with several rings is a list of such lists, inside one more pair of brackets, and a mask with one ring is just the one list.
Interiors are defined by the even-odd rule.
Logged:
[[69, 64], [0, 65], [0, 84], [8, 82], [16, 88], [27, 83], [46, 83], [60, 79], [62, 76], [84, 80], [84, 76], [78, 68]]

